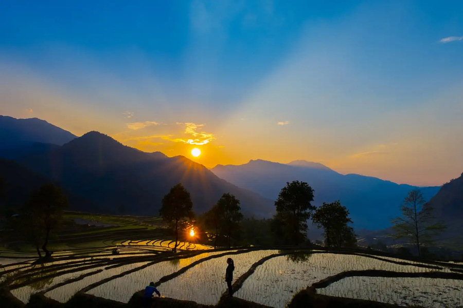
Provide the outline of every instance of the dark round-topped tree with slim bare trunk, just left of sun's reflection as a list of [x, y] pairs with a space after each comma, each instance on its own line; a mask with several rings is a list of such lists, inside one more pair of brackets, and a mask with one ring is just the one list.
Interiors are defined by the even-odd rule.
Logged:
[[164, 221], [175, 223], [175, 247], [173, 250], [176, 252], [177, 242], [179, 242], [179, 223], [185, 222], [186, 218], [192, 219], [194, 217], [190, 193], [181, 183], [173, 186], [169, 193], [164, 196], [159, 215]]

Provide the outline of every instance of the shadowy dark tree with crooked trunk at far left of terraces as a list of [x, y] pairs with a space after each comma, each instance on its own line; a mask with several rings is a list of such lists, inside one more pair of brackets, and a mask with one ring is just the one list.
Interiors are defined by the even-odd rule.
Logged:
[[[63, 211], [67, 206], [67, 197], [61, 188], [54, 184], [44, 185], [30, 193], [30, 198], [25, 205], [23, 221], [31, 224], [27, 226], [28, 234], [33, 233], [35, 229], [42, 230], [44, 234], [42, 250], [45, 252], [45, 258], [51, 257], [47, 249], [48, 240], [51, 232], [61, 225]], [[37, 236], [36, 239], [40, 240], [40, 237]], [[38, 253], [40, 256], [40, 251]]]

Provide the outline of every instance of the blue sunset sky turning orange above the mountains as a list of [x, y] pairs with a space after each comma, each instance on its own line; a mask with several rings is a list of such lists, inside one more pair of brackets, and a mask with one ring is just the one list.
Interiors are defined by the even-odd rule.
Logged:
[[461, 1], [3, 0], [0, 114], [441, 185], [463, 171], [462, 56]]

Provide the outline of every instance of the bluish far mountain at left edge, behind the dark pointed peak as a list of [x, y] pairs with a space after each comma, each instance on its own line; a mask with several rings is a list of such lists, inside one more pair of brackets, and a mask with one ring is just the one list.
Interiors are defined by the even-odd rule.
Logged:
[[29, 146], [35, 142], [63, 145], [74, 138], [74, 134], [44, 120], [0, 115], [0, 149]]

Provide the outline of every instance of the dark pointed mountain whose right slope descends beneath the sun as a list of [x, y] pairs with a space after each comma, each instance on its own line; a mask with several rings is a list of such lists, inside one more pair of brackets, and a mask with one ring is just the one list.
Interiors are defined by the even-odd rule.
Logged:
[[146, 153], [96, 131], [58, 148], [17, 153], [9, 152], [18, 163], [95, 204], [92, 211], [158, 215], [162, 198], [177, 183], [190, 191], [196, 213], [209, 209], [224, 192], [241, 200], [244, 214], [269, 217], [273, 211], [271, 200], [219, 179], [203, 165], [182, 156]]

